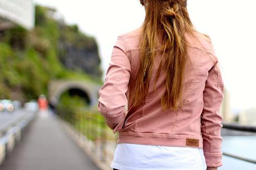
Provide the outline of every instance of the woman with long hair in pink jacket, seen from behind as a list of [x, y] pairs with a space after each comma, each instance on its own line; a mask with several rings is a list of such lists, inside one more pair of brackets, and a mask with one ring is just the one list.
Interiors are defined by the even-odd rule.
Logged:
[[217, 169], [224, 84], [210, 38], [193, 27], [186, 0], [141, 4], [144, 24], [117, 38], [99, 91], [98, 109], [119, 132], [111, 167]]

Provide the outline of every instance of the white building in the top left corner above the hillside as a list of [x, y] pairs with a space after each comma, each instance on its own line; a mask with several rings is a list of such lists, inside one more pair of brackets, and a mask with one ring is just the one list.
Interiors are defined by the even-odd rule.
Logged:
[[18, 24], [26, 29], [35, 25], [33, 0], [0, 0], [0, 29]]

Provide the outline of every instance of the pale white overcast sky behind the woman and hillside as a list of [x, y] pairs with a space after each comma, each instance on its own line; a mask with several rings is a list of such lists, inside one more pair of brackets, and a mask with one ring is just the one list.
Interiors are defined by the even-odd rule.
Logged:
[[[112, 48], [120, 34], [141, 26], [145, 11], [139, 0], [35, 0], [56, 8], [68, 24], [96, 38], [101, 66], [109, 66]], [[190, 18], [199, 32], [214, 44], [230, 93], [232, 109], [256, 107], [256, 1], [188, 0]]]

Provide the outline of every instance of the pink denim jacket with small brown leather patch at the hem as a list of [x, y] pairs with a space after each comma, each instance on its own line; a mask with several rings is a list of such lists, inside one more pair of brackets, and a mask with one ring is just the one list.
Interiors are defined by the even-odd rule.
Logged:
[[[154, 78], [160, 54], [154, 62], [149, 93], [140, 106], [129, 100], [139, 69], [141, 29], [117, 38], [107, 69], [105, 83], [99, 91], [98, 109], [118, 143], [203, 148], [208, 167], [222, 166], [220, 131], [223, 121], [219, 110], [224, 83], [218, 58], [209, 38], [196, 33], [188, 41], [188, 63], [185, 72], [183, 108], [163, 111], [161, 96], [166, 74], [161, 71], [154, 92]], [[125, 106], [127, 104], [127, 113]]]

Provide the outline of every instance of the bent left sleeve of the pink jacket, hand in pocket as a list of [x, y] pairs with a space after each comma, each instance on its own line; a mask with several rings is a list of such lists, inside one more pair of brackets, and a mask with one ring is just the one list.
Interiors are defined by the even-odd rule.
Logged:
[[122, 37], [118, 37], [98, 99], [98, 110], [114, 133], [122, 128], [125, 121], [126, 92], [130, 73], [131, 66], [127, 58], [126, 44]]

